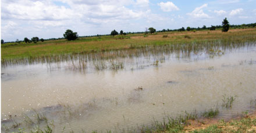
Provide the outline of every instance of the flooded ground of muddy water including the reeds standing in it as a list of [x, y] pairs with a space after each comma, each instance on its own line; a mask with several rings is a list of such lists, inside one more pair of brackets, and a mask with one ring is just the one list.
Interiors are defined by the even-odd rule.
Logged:
[[255, 110], [255, 65], [253, 41], [5, 60], [1, 131], [140, 132], [180, 115], [230, 119]]

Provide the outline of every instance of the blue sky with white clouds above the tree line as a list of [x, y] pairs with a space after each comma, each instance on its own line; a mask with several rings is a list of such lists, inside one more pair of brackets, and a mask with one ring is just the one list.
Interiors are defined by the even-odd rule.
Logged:
[[256, 0], [1, 0], [1, 39], [256, 23]]

